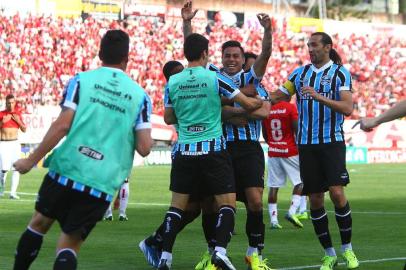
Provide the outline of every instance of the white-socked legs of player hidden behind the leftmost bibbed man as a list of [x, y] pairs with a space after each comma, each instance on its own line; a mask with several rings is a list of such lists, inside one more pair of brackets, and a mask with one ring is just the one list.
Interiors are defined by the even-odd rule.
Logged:
[[[130, 197], [130, 184], [128, 181], [128, 177], [124, 180], [124, 183], [121, 185], [120, 190], [118, 191], [117, 197], [114, 202], [110, 203], [109, 207], [107, 208], [106, 213], [104, 214], [103, 220], [106, 221], [113, 221], [113, 208], [119, 209], [118, 214], [118, 221], [128, 221], [128, 217], [126, 214], [127, 206], [128, 206], [128, 199]], [[117, 208], [116, 208], [117, 205]]]

